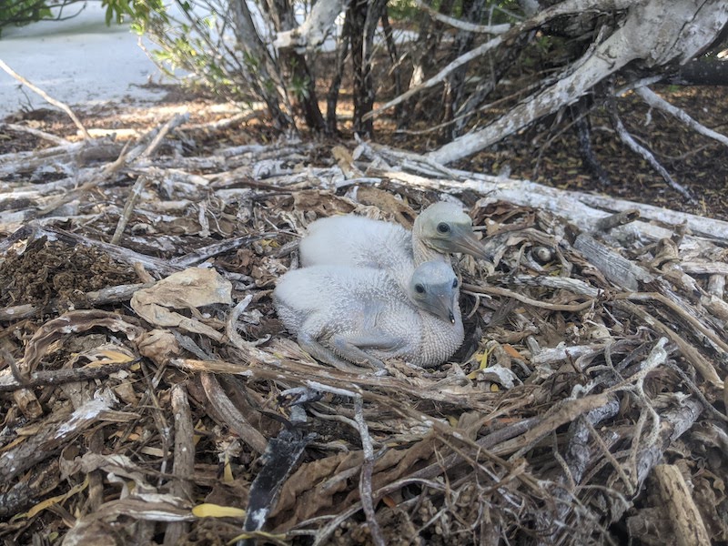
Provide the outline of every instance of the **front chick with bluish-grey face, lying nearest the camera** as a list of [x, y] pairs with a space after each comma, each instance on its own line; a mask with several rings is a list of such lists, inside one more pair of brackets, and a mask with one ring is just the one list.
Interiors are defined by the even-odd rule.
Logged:
[[288, 271], [273, 301], [301, 348], [338, 368], [381, 368], [383, 359], [429, 366], [449, 359], [463, 339], [458, 280], [450, 264], [430, 261], [403, 272], [320, 265]]

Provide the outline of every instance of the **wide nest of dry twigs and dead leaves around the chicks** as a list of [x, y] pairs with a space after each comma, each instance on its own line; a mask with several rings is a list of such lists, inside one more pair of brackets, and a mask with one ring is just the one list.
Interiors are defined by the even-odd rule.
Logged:
[[[191, 152], [218, 126], [185, 122], [0, 157], [5, 541], [728, 540], [724, 239], [383, 147]], [[441, 198], [493, 257], [454, 262], [453, 358], [299, 349], [270, 296], [308, 223]]]

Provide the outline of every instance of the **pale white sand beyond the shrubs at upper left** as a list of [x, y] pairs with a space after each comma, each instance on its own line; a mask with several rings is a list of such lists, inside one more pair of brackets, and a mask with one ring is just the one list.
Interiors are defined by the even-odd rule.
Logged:
[[[100, 2], [72, 5], [65, 14], [79, 10], [66, 21], [3, 29], [0, 59], [50, 96], [80, 110], [109, 102], [144, 106], [161, 97], [164, 91], [141, 86], [169, 80], [128, 25], [106, 26]], [[0, 71], [0, 118], [38, 107], [50, 105]]]

